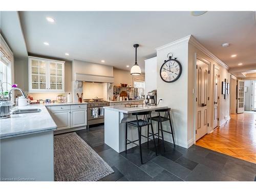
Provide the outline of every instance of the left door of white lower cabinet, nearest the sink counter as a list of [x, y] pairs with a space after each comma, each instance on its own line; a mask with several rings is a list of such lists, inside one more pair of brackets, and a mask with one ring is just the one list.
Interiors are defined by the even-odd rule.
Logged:
[[57, 130], [70, 128], [70, 110], [51, 111], [51, 116], [57, 125]]

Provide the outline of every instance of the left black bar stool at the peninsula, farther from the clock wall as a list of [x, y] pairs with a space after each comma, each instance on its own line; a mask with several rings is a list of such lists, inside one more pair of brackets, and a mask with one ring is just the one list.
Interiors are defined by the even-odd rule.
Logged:
[[[155, 144], [155, 148], [156, 148], [156, 155], [157, 155], [157, 146], [156, 146], [156, 141], [155, 141], [155, 134], [154, 134], [154, 130], [153, 130], [152, 120], [151, 120], [151, 112], [152, 111], [132, 113], [132, 115], [136, 115], [136, 120], [127, 121], [125, 124], [125, 153], [127, 153], [127, 144], [133, 143], [135, 145], [138, 145], [140, 147], [141, 164], [143, 164], [142, 152], [141, 152], [141, 136], [147, 138], [147, 141], [148, 141], [148, 139], [154, 140], [154, 144]], [[144, 115], [143, 119], [138, 119], [138, 115]], [[138, 128], [138, 140], [131, 141], [131, 140], [127, 139], [127, 125], [132, 125], [132, 126], [135, 126]], [[151, 125], [151, 131], [153, 133], [153, 139], [148, 138], [148, 136], [146, 137], [144, 135], [141, 135], [141, 127], [147, 126], [147, 131], [148, 131], [150, 129], [150, 125]], [[127, 142], [127, 141], [129, 141], [129, 142]], [[139, 144], [135, 143], [136, 141], [139, 141]]]

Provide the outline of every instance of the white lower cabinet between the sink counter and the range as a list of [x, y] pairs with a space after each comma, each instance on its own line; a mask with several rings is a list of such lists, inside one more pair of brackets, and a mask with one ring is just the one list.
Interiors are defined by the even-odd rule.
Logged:
[[57, 125], [57, 131], [87, 125], [86, 104], [51, 106], [49, 113]]

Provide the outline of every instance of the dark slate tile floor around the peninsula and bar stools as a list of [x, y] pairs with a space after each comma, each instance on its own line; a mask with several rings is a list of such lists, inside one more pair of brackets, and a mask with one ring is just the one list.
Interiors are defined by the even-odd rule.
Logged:
[[[104, 144], [104, 125], [76, 131], [115, 171], [100, 181], [254, 181], [256, 164], [193, 145], [186, 149], [161, 141], [155, 154], [151, 141], [143, 143], [143, 163], [139, 147], [117, 153]], [[158, 143], [158, 142], [157, 142]]]

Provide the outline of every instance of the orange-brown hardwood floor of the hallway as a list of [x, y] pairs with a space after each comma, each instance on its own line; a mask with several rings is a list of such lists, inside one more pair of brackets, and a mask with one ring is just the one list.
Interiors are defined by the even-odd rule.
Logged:
[[196, 145], [256, 163], [256, 114], [232, 114], [231, 119]]

